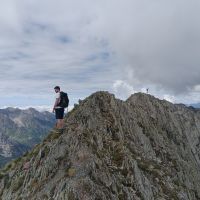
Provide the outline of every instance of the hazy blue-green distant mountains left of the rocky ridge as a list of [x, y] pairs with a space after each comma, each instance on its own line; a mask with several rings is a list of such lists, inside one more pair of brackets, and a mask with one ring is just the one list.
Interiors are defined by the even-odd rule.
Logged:
[[0, 167], [41, 142], [55, 124], [50, 112], [0, 109]]

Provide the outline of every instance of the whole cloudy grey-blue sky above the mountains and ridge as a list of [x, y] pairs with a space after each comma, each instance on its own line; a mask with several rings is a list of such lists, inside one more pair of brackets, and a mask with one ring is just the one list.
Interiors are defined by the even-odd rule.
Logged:
[[200, 102], [199, 0], [2, 0], [0, 107], [107, 90]]

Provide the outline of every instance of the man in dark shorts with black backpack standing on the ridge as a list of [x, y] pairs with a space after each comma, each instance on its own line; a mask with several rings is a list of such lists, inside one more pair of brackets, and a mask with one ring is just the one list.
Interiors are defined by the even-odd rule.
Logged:
[[[56, 128], [58, 129], [62, 129], [63, 126], [64, 126], [64, 111], [65, 111], [65, 107], [68, 107], [68, 103], [69, 103], [69, 100], [67, 102], [65, 102], [65, 97], [64, 95], [67, 96], [66, 93], [60, 91], [60, 87], [59, 86], [56, 86], [54, 88], [55, 90], [55, 93], [56, 93], [56, 100], [55, 100], [55, 103], [54, 103], [54, 106], [53, 106], [53, 112], [55, 112], [55, 115], [56, 115], [56, 119], [57, 119], [57, 123], [56, 123]], [[67, 99], [68, 99], [68, 96], [67, 96]]]

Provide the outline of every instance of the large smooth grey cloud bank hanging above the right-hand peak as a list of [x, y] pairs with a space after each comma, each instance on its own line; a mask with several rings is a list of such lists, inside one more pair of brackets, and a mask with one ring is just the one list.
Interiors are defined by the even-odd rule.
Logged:
[[129, 84], [154, 84], [176, 94], [199, 84], [199, 1], [127, 0], [113, 6], [109, 1], [104, 9], [101, 28]]

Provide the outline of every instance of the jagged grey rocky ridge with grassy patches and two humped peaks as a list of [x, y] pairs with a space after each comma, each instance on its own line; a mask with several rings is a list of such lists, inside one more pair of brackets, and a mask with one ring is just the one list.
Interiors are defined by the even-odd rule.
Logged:
[[0, 178], [2, 200], [200, 199], [200, 112], [96, 92]]

